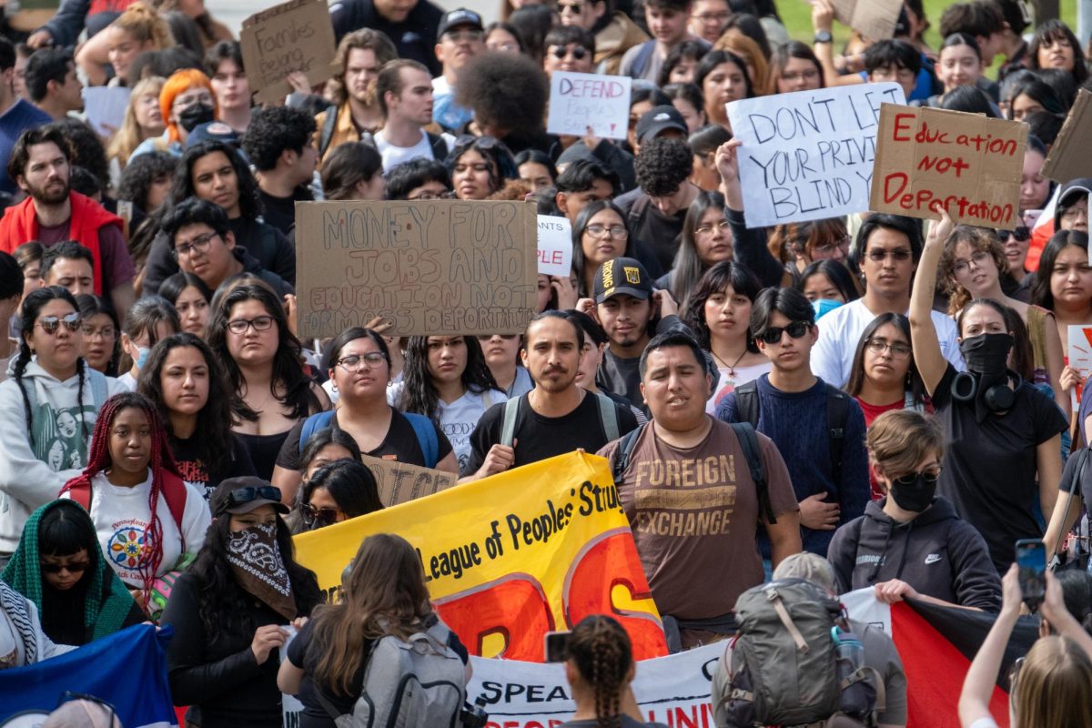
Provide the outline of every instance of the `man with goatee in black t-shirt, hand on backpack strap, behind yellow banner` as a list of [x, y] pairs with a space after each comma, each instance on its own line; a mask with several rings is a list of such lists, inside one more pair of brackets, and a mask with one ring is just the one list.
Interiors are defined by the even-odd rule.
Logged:
[[561, 311], [544, 311], [523, 334], [523, 366], [535, 389], [490, 407], [471, 434], [460, 482], [569, 453], [596, 452], [637, 428], [637, 418], [605, 395], [577, 386], [584, 332]]

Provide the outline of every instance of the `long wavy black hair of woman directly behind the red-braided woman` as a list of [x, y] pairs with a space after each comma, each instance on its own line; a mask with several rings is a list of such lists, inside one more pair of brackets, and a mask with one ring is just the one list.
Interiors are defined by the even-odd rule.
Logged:
[[230, 466], [232, 443], [235, 435], [232, 434], [232, 395], [225, 381], [224, 368], [204, 339], [181, 332], [156, 343], [140, 370], [136, 391], [155, 404], [167, 431], [167, 442], [174, 451], [179, 440], [170, 427], [170, 410], [167, 409], [163, 398], [162, 375], [170, 353], [186, 346], [192, 346], [200, 351], [209, 369], [209, 399], [198, 411], [198, 425], [194, 430], [197, 437], [191, 438], [190, 442], [197, 451], [198, 458], [205, 463], [210, 477], [214, 477], [214, 474], [223, 474]]

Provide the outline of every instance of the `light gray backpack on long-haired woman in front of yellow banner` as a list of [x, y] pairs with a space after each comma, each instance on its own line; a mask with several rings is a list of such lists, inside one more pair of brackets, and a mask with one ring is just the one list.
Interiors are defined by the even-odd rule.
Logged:
[[448, 645], [450, 635], [437, 620], [408, 640], [379, 640], [353, 713], [335, 715], [320, 697], [337, 728], [455, 728], [466, 700], [466, 668]]

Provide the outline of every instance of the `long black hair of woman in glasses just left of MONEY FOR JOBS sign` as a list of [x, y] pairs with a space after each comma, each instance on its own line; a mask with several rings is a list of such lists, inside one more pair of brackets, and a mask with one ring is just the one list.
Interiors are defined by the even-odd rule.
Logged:
[[[249, 422], [258, 420], [258, 413], [251, 409], [242, 399], [242, 371], [227, 349], [227, 318], [236, 303], [258, 301], [273, 318], [277, 327], [277, 347], [273, 355], [273, 377], [270, 379], [270, 393], [285, 408], [288, 408], [290, 419], [305, 417], [322, 409], [322, 404], [311, 391], [311, 380], [304, 373], [300, 365], [304, 347], [296, 335], [288, 330], [288, 317], [284, 306], [273, 289], [256, 276], [240, 276], [239, 282], [222, 290], [213, 298], [212, 314], [209, 319], [209, 346], [227, 371], [227, 381], [232, 385], [232, 411], [238, 419]], [[284, 386], [284, 394], [277, 394], [277, 385]]]

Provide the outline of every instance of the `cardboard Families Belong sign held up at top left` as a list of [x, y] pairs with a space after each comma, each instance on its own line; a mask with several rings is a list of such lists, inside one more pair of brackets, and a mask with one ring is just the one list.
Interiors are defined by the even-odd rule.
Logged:
[[336, 44], [325, 0], [289, 0], [242, 21], [239, 34], [250, 92], [259, 104], [283, 99], [289, 73], [302, 71], [311, 85], [332, 75]]

